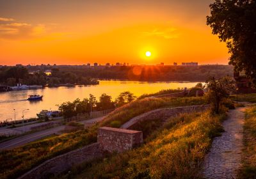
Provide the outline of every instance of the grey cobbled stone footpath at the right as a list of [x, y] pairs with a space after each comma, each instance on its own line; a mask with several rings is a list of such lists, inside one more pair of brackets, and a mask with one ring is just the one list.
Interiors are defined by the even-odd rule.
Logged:
[[211, 150], [205, 156], [205, 178], [236, 178], [243, 149], [244, 109], [246, 107], [229, 111], [228, 119], [223, 122], [225, 132], [214, 138]]

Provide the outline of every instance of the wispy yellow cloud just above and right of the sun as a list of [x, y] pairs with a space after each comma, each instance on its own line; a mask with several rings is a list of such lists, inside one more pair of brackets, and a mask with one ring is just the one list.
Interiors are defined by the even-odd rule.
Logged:
[[166, 27], [164, 29], [153, 29], [152, 31], [143, 32], [144, 36], [158, 36], [166, 39], [178, 38], [179, 34], [176, 32], [177, 29], [173, 27]]

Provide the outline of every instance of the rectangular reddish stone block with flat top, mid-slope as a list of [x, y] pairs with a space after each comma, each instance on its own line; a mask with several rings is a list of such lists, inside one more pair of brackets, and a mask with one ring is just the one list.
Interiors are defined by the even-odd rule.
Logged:
[[124, 152], [143, 143], [143, 134], [137, 130], [101, 127], [98, 130], [98, 143], [102, 150]]

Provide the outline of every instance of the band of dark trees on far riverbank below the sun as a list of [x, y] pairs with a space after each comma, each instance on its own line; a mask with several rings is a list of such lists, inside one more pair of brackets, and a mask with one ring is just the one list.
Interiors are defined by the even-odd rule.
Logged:
[[[6, 84], [6, 71], [12, 66], [0, 66], [0, 83]], [[88, 66], [50, 66], [36, 65], [26, 66], [29, 72], [40, 72], [41, 77], [37, 79], [38, 85], [44, 84], [41, 79], [46, 79], [49, 86], [58, 86], [65, 84], [99, 84], [93, 79], [120, 79], [130, 81], [205, 81], [207, 75], [216, 77], [216, 79], [225, 75], [233, 74], [233, 67], [227, 65], [204, 65], [204, 66], [110, 66], [99, 68], [90, 68]], [[134, 74], [134, 69], [141, 70], [140, 75]], [[51, 70], [51, 75], [44, 74], [45, 70]], [[74, 75], [67, 73], [72, 73]], [[26, 75], [23, 79], [20, 77], [22, 84], [33, 84], [35, 80], [30, 81], [34, 74]], [[73, 81], [75, 80], [75, 81]], [[12, 80], [11, 80], [12, 82]], [[17, 84], [15, 79], [15, 84]], [[12, 85], [11, 85], [12, 86]]]

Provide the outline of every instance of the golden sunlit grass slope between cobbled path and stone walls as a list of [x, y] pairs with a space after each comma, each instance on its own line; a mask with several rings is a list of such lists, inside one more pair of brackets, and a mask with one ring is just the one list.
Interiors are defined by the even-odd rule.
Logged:
[[140, 148], [73, 167], [58, 178], [198, 178], [212, 138], [223, 132], [225, 113], [183, 114], [157, 128]]

